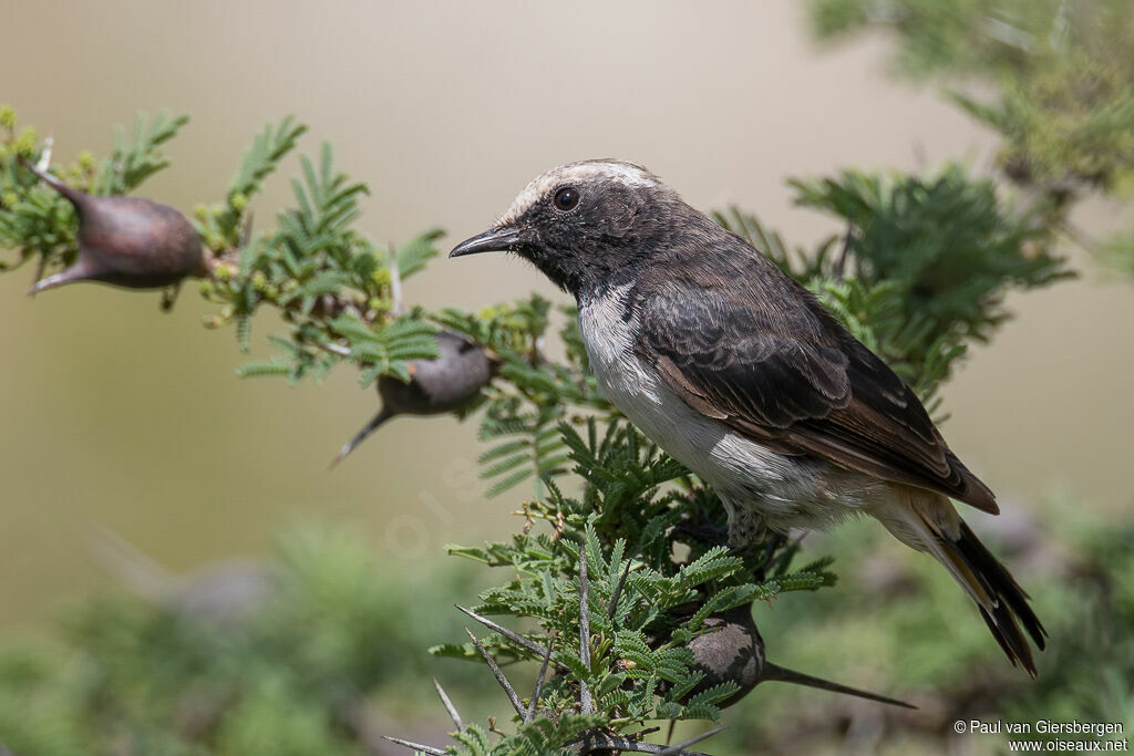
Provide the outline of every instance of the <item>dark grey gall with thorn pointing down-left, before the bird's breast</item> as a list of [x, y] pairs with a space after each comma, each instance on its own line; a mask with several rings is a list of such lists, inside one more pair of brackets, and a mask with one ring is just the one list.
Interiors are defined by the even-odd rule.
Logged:
[[338, 465], [366, 436], [398, 415], [441, 415], [460, 409], [476, 398], [492, 377], [492, 364], [475, 343], [452, 331], [437, 334], [438, 357], [409, 363], [409, 383], [396, 377], [378, 380], [382, 409], [331, 461]]

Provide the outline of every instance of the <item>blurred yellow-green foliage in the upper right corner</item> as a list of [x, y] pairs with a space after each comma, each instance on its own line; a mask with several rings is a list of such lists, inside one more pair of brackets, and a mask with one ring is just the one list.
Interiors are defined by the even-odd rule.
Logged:
[[1000, 135], [1004, 176], [1036, 195], [1052, 230], [1118, 270], [1134, 270], [1129, 232], [1097, 245], [1067, 226], [1076, 199], [1128, 199], [1134, 187], [1134, 5], [811, 0], [810, 7], [822, 40], [888, 29], [897, 71], [943, 78], [948, 96]]

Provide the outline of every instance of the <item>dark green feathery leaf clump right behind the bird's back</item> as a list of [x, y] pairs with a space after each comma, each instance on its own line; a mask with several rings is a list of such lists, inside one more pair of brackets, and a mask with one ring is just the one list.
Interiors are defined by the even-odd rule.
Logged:
[[959, 165], [928, 178], [845, 171], [792, 186], [798, 204], [852, 224], [848, 274], [864, 288], [897, 287], [890, 301], [902, 305], [895, 324], [905, 333], [883, 338], [897, 339], [917, 367], [934, 345], [939, 351], [939, 339], [987, 341], [1008, 317], [1008, 287], [1048, 286], [1069, 274], [1048, 252], [1051, 235], [1042, 223], [1005, 209], [991, 181], [971, 179]]

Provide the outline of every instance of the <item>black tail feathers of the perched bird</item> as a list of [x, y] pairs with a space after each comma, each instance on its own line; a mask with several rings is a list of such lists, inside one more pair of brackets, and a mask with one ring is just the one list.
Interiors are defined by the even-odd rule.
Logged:
[[1035, 660], [1027, 636], [1042, 651], [1047, 630], [1029, 605], [1027, 593], [963, 520], [958, 518], [957, 534], [949, 535], [924, 513], [919, 512], [919, 519], [929, 552], [976, 602], [984, 623], [1013, 665], [1023, 666], [1034, 678]]

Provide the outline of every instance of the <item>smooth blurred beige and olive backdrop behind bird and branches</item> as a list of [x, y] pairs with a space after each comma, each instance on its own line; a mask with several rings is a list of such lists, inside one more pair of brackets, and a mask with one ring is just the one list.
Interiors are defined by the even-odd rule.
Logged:
[[[538, 172], [612, 155], [697, 207], [735, 203], [810, 244], [838, 229], [790, 205], [788, 176], [957, 156], [991, 169], [996, 144], [932, 91], [889, 78], [881, 36], [820, 49], [793, 0], [96, 0], [3, 16], [0, 101], [53, 135], [61, 160], [104, 153], [110, 126], [137, 110], [188, 112], [174, 167], [146, 187], [188, 212], [223, 193], [264, 122], [296, 113], [313, 127], [305, 151], [330, 139], [370, 182], [362, 228], [379, 241], [441, 226], [455, 243]], [[270, 181], [257, 214], [287, 193]], [[1115, 215], [1098, 202], [1075, 222], [1102, 236]], [[1016, 318], [946, 385], [943, 431], [1005, 510], [1063, 495], [1105, 516], [1134, 503], [1134, 288], [1068, 252], [1081, 278], [1009, 299]], [[518, 525], [514, 496], [481, 495], [472, 425], [399, 419], [329, 474], [376, 407], [353, 375], [242, 382], [244, 358], [229, 333], [201, 326], [192, 287], [163, 315], [155, 295], [95, 286], [31, 299], [31, 273], [0, 277], [0, 632], [37, 632], [116, 584], [91, 546], [102, 527], [183, 571], [263, 554], [297, 520], [331, 521], [400, 585], [440, 569], [442, 544]], [[532, 289], [551, 295], [500, 257], [438, 261], [406, 295], [475, 308]]]

